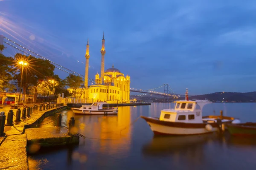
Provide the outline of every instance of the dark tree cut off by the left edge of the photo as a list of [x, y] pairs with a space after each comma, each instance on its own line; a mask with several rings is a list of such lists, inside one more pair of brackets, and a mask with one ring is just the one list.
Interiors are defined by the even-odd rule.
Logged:
[[[0, 45], [0, 51], [3, 51], [5, 47]], [[12, 74], [15, 70], [12, 69], [15, 60], [12, 57], [5, 57], [0, 54], [0, 91], [4, 91], [5, 88], [13, 88], [9, 81], [12, 80]]]

